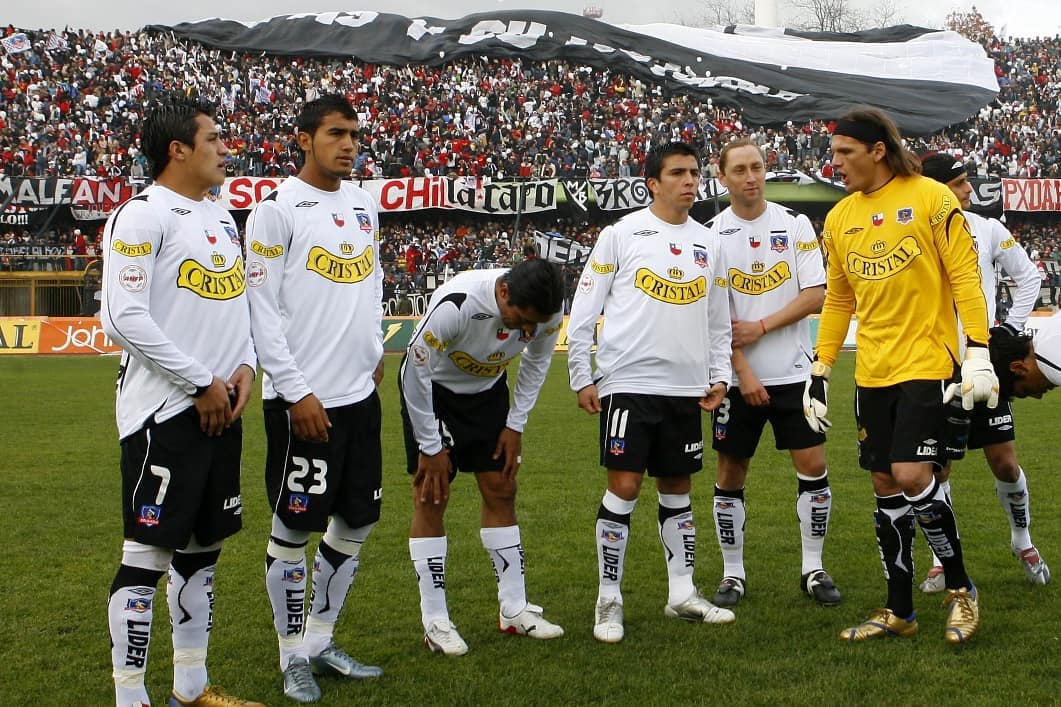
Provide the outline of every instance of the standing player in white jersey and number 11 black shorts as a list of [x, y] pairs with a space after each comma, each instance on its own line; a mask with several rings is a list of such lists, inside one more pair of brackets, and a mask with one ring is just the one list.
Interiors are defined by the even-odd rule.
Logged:
[[[701, 410], [715, 410], [730, 383], [730, 315], [718, 241], [689, 218], [700, 163], [683, 142], [645, 160], [653, 204], [601, 231], [568, 323], [568, 366], [578, 407], [601, 415], [601, 465], [608, 488], [597, 512], [598, 582], [593, 636], [623, 640], [621, 583], [630, 514], [645, 471], [656, 479], [667, 569], [664, 615], [729, 623], [729, 609], [693, 584], [696, 525], [692, 475], [703, 463]], [[596, 370], [590, 365], [601, 312]]]

